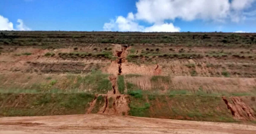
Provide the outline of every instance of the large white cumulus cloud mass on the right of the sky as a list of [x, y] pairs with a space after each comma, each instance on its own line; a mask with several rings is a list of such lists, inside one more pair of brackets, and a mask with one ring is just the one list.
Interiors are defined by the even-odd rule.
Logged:
[[[142, 32], [177, 32], [180, 28], [166, 20], [176, 18], [184, 21], [196, 19], [204, 21], [225, 22], [230, 19], [240, 22], [246, 19], [245, 9], [251, 7], [256, 0], [138, 0], [137, 13], [129, 13], [127, 17], [118, 16], [116, 20], [105, 23], [105, 31], [142, 31]], [[250, 12], [252, 14], [254, 12]], [[152, 24], [143, 27], [138, 24], [143, 20]]]

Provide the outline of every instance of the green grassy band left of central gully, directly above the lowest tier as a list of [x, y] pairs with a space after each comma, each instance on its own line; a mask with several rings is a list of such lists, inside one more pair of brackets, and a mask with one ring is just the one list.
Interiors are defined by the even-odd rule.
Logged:
[[[3, 77], [4, 78], [4, 77]], [[32, 78], [30, 78], [32, 79]], [[20, 83], [2, 85], [0, 81], [1, 93], [50, 93], [50, 92], [87, 92], [87, 93], [107, 93], [112, 90], [112, 84], [108, 79], [108, 74], [101, 71], [92, 70], [88, 75], [66, 75], [60, 79], [45, 77], [39, 82], [31, 83], [30, 79], [24, 79], [28, 82], [26, 86]]]

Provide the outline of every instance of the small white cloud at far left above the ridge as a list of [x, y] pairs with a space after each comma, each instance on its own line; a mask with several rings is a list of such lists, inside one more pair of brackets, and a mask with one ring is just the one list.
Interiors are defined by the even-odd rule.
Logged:
[[0, 15], [0, 30], [20, 30], [20, 31], [28, 31], [31, 30], [27, 26], [24, 25], [23, 20], [18, 19], [17, 22], [19, 23], [16, 25], [16, 29], [13, 28], [13, 23], [9, 22], [8, 18], [4, 18]]

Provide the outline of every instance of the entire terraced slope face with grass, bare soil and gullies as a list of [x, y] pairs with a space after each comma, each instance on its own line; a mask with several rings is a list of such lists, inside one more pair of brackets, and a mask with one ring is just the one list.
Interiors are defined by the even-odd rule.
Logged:
[[255, 37], [2, 31], [0, 115], [253, 121]]

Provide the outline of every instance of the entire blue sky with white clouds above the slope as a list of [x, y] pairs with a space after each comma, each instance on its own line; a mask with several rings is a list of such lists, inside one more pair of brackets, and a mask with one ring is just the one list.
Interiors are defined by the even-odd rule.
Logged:
[[0, 0], [0, 30], [256, 33], [256, 0]]

